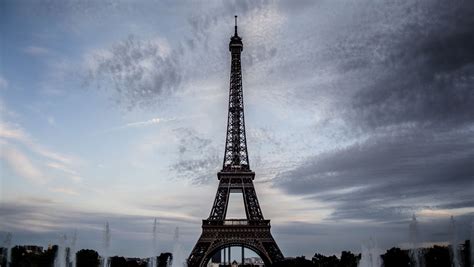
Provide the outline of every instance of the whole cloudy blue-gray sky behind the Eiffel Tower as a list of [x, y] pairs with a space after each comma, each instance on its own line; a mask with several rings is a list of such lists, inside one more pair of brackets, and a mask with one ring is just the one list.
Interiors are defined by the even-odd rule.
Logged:
[[[472, 1], [1, 1], [0, 238], [183, 255], [222, 164], [233, 15], [249, 157], [285, 256], [459, 240]], [[1, 241], [1, 240], [0, 240]]]

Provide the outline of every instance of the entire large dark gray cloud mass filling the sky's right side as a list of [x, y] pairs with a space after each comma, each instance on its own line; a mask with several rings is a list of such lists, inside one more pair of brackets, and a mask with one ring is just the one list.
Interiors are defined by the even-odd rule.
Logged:
[[[337, 4], [313, 8], [339, 16]], [[320, 27], [302, 28], [315, 43], [302, 74], [287, 70], [291, 60], [277, 73], [341, 76], [301, 83], [287, 96], [322, 121], [342, 121], [355, 144], [313, 154], [275, 186], [334, 208], [328, 220], [386, 223], [422, 209], [472, 208], [473, 10], [467, 2], [378, 3], [351, 10], [351, 24], [338, 20], [333, 27], [344, 27], [324, 41], [309, 34], [324, 38]], [[319, 136], [335, 131], [315, 125]]]

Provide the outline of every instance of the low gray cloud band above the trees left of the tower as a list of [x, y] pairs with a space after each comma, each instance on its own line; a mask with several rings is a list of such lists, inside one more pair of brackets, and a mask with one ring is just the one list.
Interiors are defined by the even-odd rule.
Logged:
[[[145, 257], [152, 254], [152, 216], [77, 211], [53, 201], [2, 202], [0, 213], [0, 236], [7, 232], [13, 233], [12, 245], [59, 244], [63, 234], [71, 237], [76, 231], [76, 249], [95, 249], [101, 253], [103, 244], [97, 237], [102, 236], [107, 221], [111, 227], [112, 255]], [[194, 221], [173, 217], [160, 217], [158, 220], [159, 251], [172, 252], [176, 226], [180, 227], [182, 233], [182, 245], [189, 248], [195, 241], [193, 239], [199, 226]]]

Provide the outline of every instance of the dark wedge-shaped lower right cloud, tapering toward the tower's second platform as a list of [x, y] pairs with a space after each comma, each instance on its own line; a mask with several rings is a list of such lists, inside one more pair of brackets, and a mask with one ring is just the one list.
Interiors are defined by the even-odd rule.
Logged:
[[423, 208], [472, 207], [472, 162], [472, 131], [392, 132], [314, 156], [275, 183], [334, 207], [328, 219], [384, 222]]

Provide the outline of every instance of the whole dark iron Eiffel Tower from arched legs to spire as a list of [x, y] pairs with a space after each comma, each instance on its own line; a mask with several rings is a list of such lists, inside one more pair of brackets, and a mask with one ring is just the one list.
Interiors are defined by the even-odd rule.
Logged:
[[[214, 205], [209, 218], [202, 221], [202, 234], [191, 255], [188, 267], [204, 267], [221, 250], [241, 247], [256, 252], [266, 266], [283, 259], [283, 254], [270, 232], [270, 220], [265, 220], [258, 204], [253, 180], [255, 173], [250, 170], [245, 137], [244, 98], [242, 91], [242, 70], [240, 54], [243, 50], [242, 38], [237, 34], [237, 16], [235, 33], [230, 38], [231, 53], [229, 113], [224, 162], [217, 173], [217, 188]], [[226, 219], [231, 193], [241, 193], [245, 206], [245, 219]]]

